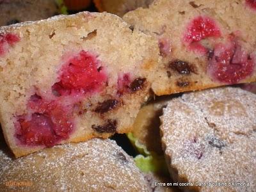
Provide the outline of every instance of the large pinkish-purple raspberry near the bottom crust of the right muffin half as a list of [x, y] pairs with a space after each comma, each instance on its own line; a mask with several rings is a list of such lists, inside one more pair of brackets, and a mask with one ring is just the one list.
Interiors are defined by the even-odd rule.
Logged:
[[238, 83], [253, 72], [255, 60], [236, 41], [217, 44], [209, 61], [209, 74], [221, 83]]

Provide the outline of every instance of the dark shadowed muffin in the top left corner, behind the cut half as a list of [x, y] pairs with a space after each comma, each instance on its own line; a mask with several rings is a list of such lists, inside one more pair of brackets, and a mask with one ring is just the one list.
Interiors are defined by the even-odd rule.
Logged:
[[28, 20], [47, 19], [58, 12], [54, 0], [2, 0], [0, 26]]

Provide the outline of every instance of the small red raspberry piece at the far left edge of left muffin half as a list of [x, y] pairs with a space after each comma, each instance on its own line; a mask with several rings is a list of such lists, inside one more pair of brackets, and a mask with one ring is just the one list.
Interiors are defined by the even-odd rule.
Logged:
[[15, 43], [20, 41], [18, 35], [12, 33], [0, 34], [0, 56], [3, 56]]

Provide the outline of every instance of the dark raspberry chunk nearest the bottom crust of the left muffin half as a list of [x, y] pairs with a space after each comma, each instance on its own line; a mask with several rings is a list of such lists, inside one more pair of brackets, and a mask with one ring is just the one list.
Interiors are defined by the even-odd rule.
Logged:
[[32, 95], [28, 107], [30, 114], [22, 115], [16, 124], [16, 136], [24, 145], [52, 147], [67, 139], [73, 129], [71, 111], [57, 101], [47, 101]]

